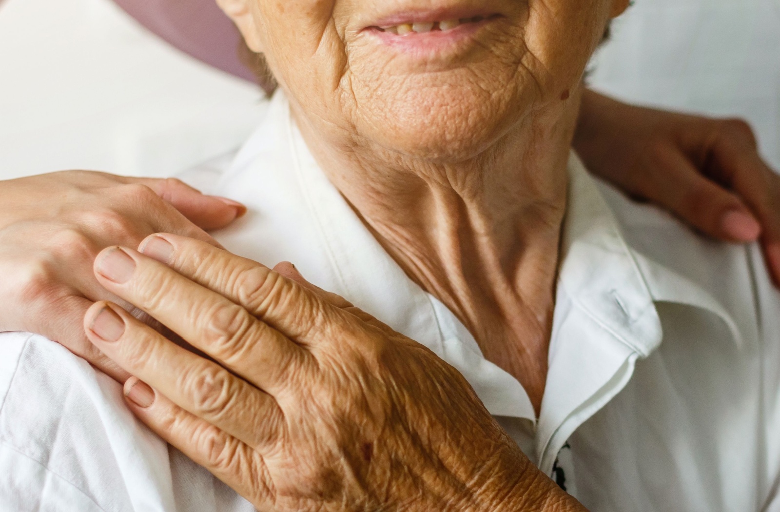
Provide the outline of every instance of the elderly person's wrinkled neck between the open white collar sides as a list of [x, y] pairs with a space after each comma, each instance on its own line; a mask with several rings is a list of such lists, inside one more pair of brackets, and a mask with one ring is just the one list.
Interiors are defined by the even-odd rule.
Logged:
[[573, 98], [521, 119], [460, 162], [334, 144], [296, 112], [315, 158], [377, 240], [523, 384], [537, 414], [577, 105]]

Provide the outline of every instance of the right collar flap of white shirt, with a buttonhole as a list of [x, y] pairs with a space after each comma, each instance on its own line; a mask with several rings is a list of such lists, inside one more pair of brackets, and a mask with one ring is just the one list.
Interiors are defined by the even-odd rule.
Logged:
[[[711, 293], [633, 247], [625, 233], [632, 226], [621, 222], [622, 215], [615, 215], [603, 194], [606, 187], [590, 176], [573, 152], [558, 287], [572, 293], [583, 311], [640, 357], [651, 354], [663, 338], [655, 308], [658, 302], [685, 304], [717, 315], [729, 327], [735, 343], [741, 344], [734, 318]], [[630, 203], [614, 190], [607, 194], [623, 204]], [[652, 211], [658, 212], [655, 208]], [[684, 229], [690, 237], [688, 228]]]

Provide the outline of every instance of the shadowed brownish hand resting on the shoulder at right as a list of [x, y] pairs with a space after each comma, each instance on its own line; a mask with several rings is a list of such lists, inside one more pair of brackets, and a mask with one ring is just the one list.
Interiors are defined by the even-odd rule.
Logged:
[[780, 286], [780, 177], [739, 119], [640, 108], [587, 91], [574, 147], [587, 167], [721, 240], [761, 236]]

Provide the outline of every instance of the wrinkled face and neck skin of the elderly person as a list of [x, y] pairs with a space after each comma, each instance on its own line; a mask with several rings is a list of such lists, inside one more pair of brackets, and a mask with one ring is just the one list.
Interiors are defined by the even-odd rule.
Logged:
[[539, 411], [583, 73], [628, 1], [219, 3], [325, 176]]

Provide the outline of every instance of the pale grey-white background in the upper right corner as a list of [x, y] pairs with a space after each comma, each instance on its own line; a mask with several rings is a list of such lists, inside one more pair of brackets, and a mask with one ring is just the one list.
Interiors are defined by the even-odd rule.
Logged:
[[757, 130], [780, 171], [780, 0], [634, 0], [594, 59], [594, 87], [618, 98]]

